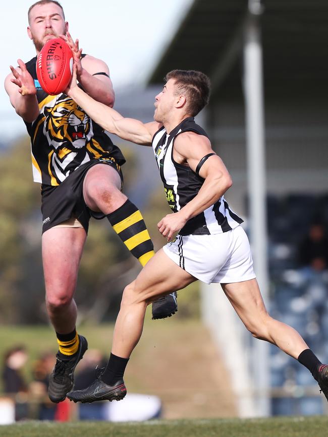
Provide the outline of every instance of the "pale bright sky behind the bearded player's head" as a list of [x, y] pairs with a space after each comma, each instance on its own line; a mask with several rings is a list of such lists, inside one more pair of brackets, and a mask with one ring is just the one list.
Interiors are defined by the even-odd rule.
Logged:
[[[27, 11], [33, 0], [3, 2], [0, 16], [2, 53], [0, 64], [1, 138], [24, 133], [3, 83], [17, 59], [35, 56], [26, 33]], [[192, 0], [60, 0], [73, 39], [84, 53], [105, 61], [114, 89], [144, 83], [162, 51], [170, 43]], [[92, 5], [92, 6], [91, 6]]]

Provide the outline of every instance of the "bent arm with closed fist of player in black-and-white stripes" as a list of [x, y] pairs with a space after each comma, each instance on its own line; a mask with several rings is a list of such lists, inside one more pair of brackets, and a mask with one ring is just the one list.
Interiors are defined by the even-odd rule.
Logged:
[[[180, 134], [174, 143], [174, 159], [187, 164], [195, 171], [199, 161], [209, 153], [213, 153], [206, 137], [193, 132]], [[201, 166], [199, 175], [204, 178], [198, 194], [175, 214], [168, 214], [158, 223], [159, 232], [172, 239], [186, 222], [213, 205], [230, 188], [232, 180], [222, 159], [217, 155], [210, 156]]]

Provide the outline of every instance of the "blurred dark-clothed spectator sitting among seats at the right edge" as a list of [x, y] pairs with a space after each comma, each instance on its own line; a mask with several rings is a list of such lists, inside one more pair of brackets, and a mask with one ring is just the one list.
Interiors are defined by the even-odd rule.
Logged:
[[298, 260], [301, 267], [310, 267], [315, 272], [328, 268], [328, 238], [322, 223], [313, 223], [308, 235], [298, 249]]

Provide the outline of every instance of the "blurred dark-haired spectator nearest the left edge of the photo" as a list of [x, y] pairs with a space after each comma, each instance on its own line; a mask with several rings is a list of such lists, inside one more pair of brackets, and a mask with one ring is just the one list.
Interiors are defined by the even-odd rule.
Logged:
[[16, 346], [6, 352], [2, 373], [4, 393], [17, 394], [27, 392], [27, 385], [21, 373], [27, 358], [24, 346]]

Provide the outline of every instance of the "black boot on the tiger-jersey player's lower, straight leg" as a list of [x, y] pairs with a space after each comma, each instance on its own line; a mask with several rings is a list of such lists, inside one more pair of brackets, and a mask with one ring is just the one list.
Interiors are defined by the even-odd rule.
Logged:
[[60, 352], [56, 355], [56, 364], [50, 374], [48, 395], [52, 402], [61, 402], [66, 398], [67, 393], [72, 390], [74, 383], [74, 370], [77, 363], [83, 358], [88, 349], [88, 342], [79, 335], [79, 347], [73, 356], [63, 359]]

